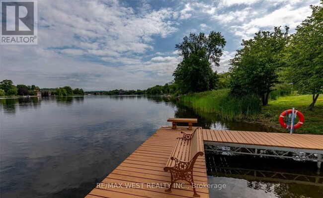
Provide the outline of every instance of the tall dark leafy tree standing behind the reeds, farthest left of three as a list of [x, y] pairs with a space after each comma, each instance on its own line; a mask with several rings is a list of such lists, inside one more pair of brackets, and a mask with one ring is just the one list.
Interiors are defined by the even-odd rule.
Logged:
[[190, 33], [175, 46], [183, 60], [173, 72], [175, 83], [183, 93], [200, 92], [216, 87], [217, 73], [212, 66], [219, 66], [222, 50], [226, 44], [220, 32]]

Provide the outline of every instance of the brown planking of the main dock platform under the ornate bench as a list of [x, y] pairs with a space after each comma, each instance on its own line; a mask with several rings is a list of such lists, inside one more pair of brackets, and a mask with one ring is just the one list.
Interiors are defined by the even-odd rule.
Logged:
[[[181, 131], [193, 132], [187, 130], [187, 127], [177, 127], [175, 130], [171, 127], [159, 129], [85, 198], [192, 198], [192, 187], [186, 183], [182, 186], [175, 186], [171, 193], [165, 192], [168, 188], [167, 184], [170, 184], [170, 173], [165, 172], [163, 167], [165, 167], [176, 138], [183, 136]], [[204, 156], [197, 158], [193, 177], [196, 184], [207, 185]], [[118, 185], [108, 188], [106, 184]], [[139, 186], [131, 187], [134, 184]], [[197, 188], [196, 191], [201, 198], [209, 198], [207, 188]]]

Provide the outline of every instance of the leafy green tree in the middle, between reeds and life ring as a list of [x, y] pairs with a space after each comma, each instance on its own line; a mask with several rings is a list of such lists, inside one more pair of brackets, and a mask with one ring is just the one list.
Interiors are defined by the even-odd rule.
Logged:
[[252, 39], [242, 40], [243, 48], [231, 61], [231, 92], [238, 96], [257, 94], [262, 105], [268, 104], [269, 93], [278, 82], [278, 69], [282, 66], [282, 50], [288, 42], [288, 27], [283, 32], [257, 32]]

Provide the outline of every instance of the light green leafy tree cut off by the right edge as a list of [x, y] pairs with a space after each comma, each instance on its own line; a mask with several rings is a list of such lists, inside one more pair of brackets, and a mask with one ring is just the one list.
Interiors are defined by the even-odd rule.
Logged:
[[311, 5], [312, 15], [297, 26], [296, 33], [286, 48], [285, 78], [302, 94], [313, 97], [313, 109], [323, 93], [323, 1], [321, 6]]

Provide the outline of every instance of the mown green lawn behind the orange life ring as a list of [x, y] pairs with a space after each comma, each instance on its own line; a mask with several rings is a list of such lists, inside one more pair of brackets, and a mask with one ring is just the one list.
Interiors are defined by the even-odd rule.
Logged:
[[278, 117], [283, 111], [295, 107], [305, 117], [304, 125], [296, 133], [323, 134], [323, 95], [319, 96], [312, 111], [308, 108], [311, 103], [312, 95], [278, 97], [277, 100], [270, 100], [267, 106], [262, 107], [259, 122], [268, 122], [265, 125], [286, 132], [287, 130], [280, 127]]

